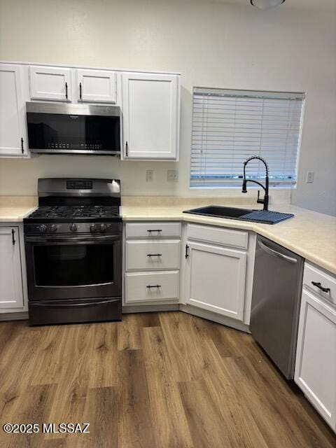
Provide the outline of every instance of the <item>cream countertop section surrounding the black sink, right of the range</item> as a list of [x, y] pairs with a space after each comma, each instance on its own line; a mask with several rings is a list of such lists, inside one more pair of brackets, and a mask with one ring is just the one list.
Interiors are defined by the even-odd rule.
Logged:
[[[208, 203], [210, 205], [210, 202]], [[230, 204], [230, 207], [235, 207]], [[165, 205], [124, 205], [121, 210], [124, 221], [184, 221], [188, 223], [200, 223], [220, 225], [227, 228], [251, 230], [272, 239], [290, 251], [301, 255], [307, 260], [336, 274], [336, 217], [317, 213], [307, 209], [301, 209], [289, 204], [274, 204], [270, 210], [293, 213], [295, 216], [274, 225], [248, 223], [239, 220], [225, 218], [211, 218], [209, 216], [197, 216], [183, 214], [183, 210], [202, 207], [179, 204]], [[256, 209], [255, 204], [237, 207]]]

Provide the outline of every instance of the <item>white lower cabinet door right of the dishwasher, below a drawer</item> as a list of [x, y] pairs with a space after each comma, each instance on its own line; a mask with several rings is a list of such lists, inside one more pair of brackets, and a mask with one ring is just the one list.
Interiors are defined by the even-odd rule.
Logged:
[[302, 291], [295, 382], [336, 430], [336, 309]]

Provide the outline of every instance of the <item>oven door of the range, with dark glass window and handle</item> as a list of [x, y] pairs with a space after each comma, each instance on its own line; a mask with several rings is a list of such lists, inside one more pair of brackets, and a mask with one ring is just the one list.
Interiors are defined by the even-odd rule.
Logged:
[[29, 300], [120, 297], [121, 239], [26, 236]]

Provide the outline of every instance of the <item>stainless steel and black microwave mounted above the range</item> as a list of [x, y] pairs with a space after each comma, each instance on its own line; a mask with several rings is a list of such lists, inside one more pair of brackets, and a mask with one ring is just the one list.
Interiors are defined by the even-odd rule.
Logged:
[[120, 155], [120, 107], [27, 102], [32, 153]]

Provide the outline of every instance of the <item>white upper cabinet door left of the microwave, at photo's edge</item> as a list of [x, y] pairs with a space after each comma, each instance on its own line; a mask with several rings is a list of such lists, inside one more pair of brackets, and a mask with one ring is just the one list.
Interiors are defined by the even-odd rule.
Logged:
[[25, 102], [21, 67], [0, 64], [0, 155], [25, 153]]

